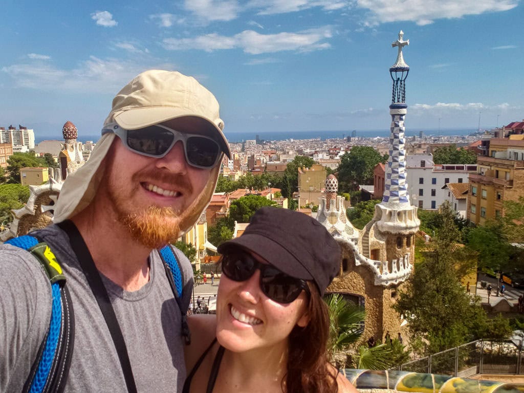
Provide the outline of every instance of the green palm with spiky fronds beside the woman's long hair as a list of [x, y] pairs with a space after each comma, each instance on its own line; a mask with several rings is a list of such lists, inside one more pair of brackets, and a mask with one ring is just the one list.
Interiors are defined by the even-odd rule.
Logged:
[[391, 348], [380, 344], [373, 347], [357, 344], [360, 340], [365, 311], [345, 300], [341, 294], [325, 297], [330, 311], [330, 341], [328, 357], [339, 368], [387, 369], [391, 366]]

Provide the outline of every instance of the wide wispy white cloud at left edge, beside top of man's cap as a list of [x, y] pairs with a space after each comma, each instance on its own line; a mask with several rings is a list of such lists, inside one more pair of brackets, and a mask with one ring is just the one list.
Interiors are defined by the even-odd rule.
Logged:
[[118, 59], [103, 60], [91, 56], [72, 70], [59, 69], [49, 64], [12, 64], [0, 70], [19, 88], [114, 94], [138, 73], [148, 69], [174, 69], [174, 66]]

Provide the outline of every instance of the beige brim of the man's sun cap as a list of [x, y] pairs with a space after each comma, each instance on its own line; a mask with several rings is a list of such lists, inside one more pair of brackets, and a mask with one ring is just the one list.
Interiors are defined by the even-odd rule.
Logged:
[[193, 112], [181, 110], [180, 108], [157, 106], [157, 107], [140, 107], [133, 108], [127, 111], [117, 112], [113, 119], [114, 121], [125, 129], [138, 129], [142, 127], [148, 127], [154, 124], [167, 122], [168, 120], [176, 119], [178, 117], [198, 117], [205, 120], [210, 125], [210, 130], [219, 134], [220, 138], [217, 141], [227, 158], [231, 158], [231, 150], [227, 139], [222, 132], [222, 129], [212, 122], [210, 119], [195, 115]]

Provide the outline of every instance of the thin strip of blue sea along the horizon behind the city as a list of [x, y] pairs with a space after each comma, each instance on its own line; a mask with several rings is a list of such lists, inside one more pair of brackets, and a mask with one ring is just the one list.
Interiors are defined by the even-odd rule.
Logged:
[[[441, 128], [439, 129], [411, 129], [406, 130], [406, 136], [419, 136], [420, 131], [424, 133], [424, 136], [437, 137], [437, 136], [467, 136], [472, 133], [476, 133], [476, 128]], [[389, 137], [389, 129], [375, 129], [375, 130], [355, 130], [356, 137], [361, 138], [376, 138], [376, 137]], [[239, 133], [227, 133], [225, 136], [230, 143], [240, 143], [249, 139], [256, 139], [258, 135], [259, 139], [263, 140], [300, 140], [300, 139], [334, 139], [352, 136], [353, 130], [306, 130], [306, 131], [265, 131], [265, 132], [239, 132]], [[100, 138], [100, 134], [97, 135], [79, 135], [78, 140], [85, 143], [85, 141], [92, 140], [96, 142]], [[35, 143], [38, 144], [43, 140], [63, 140], [62, 135], [35, 135]]]

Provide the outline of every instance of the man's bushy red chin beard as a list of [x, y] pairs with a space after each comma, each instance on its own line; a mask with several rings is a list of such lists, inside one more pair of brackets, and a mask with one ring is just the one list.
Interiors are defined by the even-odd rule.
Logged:
[[155, 249], [177, 241], [183, 217], [172, 208], [149, 206], [140, 213], [127, 213], [119, 217], [131, 236], [144, 246]]

